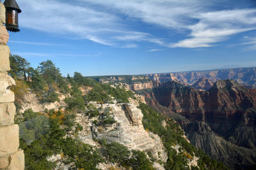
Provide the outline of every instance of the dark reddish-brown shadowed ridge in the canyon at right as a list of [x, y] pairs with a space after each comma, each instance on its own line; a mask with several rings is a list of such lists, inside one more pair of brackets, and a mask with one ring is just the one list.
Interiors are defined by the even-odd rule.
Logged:
[[179, 121], [193, 145], [232, 168], [256, 164], [256, 92], [234, 80], [207, 91], [175, 81], [143, 92], [148, 104]]

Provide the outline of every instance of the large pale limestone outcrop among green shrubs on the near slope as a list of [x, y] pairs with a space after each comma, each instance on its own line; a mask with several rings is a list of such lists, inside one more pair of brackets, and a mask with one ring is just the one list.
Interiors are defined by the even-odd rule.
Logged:
[[94, 104], [102, 110], [109, 110], [111, 117], [115, 119], [112, 125], [95, 125], [94, 120], [83, 115], [77, 117], [77, 122], [83, 125], [83, 131], [79, 132], [79, 138], [90, 145], [97, 145], [94, 139], [106, 139], [107, 143], [117, 142], [129, 149], [152, 152], [156, 160], [166, 162], [167, 155], [161, 139], [156, 134], [145, 131], [142, 125], [143, 114], [134, 104]]

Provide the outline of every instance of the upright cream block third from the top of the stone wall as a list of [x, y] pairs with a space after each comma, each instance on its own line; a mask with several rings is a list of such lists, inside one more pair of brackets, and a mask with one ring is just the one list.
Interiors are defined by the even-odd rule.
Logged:
[[7, 45], [0, 45], [0, 72], [10, 70], [10, 48]]

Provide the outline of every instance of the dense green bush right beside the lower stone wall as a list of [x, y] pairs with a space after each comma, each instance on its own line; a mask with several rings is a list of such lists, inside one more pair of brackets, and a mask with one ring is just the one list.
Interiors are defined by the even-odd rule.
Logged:
[[26, 169], [52, 169], [55, 164], [47, 157], [60, 153], [65, 136], [59, 118], [47, 118], [32, 110], [26, 110], [22, 116], [20, 148], [24, 150]]

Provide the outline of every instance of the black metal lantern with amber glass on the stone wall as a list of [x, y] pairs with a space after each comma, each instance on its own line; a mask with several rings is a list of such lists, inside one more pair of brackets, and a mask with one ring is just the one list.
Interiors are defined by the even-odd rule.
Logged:
[[5, 27], [8, 31], [19, 32], [18, 13], [21, 12], [15, 0], [5, 0], [4, 6], [6, 9]]

